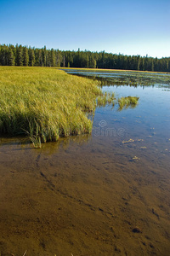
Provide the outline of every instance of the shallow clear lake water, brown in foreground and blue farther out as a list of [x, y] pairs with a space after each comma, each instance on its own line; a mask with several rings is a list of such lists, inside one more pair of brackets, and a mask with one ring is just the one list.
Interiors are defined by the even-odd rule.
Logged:
[[40, 149], [0, 140], [1, 255], [169, 255], [170, 76], [81, 75], [139, 104]]

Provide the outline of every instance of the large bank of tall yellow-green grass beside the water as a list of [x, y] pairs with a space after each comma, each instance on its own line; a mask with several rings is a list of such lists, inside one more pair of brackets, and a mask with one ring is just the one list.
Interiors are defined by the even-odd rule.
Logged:
[[99, 88], [91, 79], [48, 67], [0, 67], [0, 134], [34, 143], [88, 133]]

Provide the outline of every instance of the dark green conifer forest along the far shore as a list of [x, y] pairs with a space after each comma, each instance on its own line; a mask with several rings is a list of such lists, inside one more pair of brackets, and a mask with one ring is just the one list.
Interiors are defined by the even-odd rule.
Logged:
[[83, 67], [170, 72], [170, 57], [152, 58], [148, 55], [116, 55], [89, 50], [59, 50], [0, 44], [1, 66], [25, 67]]

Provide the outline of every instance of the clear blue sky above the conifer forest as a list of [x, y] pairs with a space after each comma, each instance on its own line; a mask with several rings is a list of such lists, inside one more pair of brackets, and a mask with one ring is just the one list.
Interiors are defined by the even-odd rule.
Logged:
[[0, 44], [170, 56], [170, 0], [0, 0]]

